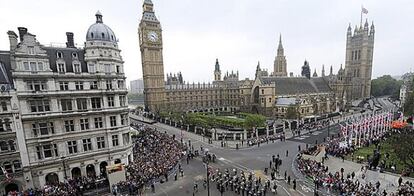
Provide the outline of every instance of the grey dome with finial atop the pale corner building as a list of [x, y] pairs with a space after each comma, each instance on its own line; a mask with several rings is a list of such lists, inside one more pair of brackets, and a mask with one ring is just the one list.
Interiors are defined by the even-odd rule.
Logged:
[[101, 12], [96, 12], [96, 23], [92, 24], [86, 34], [86, 41], [108, 41], [116, 43], [115, 33], [102, 20]]

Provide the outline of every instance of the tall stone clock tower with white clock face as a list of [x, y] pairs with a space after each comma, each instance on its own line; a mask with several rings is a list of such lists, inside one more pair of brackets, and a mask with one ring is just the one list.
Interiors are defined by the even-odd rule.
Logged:
[[151, 0], [144, 0], [139, 24], [145, 109], [158, 113], [165, 101], [164, 63], [161, 24], [154, 14]]

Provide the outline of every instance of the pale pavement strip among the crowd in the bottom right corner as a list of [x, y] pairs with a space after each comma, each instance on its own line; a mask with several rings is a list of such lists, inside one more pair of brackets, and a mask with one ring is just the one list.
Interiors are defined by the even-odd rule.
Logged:
[[[342, 162], [342, 159], [332, 156], [329, 156], [329, 159], [326, 160], [324, 164], [325, 166], [328, 166], [329, 172], [331, 173], [335, 173], [340, 171], [341, 168], [344, 168], [344, 178], [346, 178], [348, 173], [351, 174], [352, 172], [355, 172], [355, 178], [362, 184], [367, 184], [369, 182], [375, 184], [379, 181], [381, 183], [381, 192], [385, 189], [388, 193], [391, 193], [395, 192], [398, 188], [398, 179], [400, 176], [396, 174], [388, 172], [380, 173], [379, 171], [371, 170], [367, 170], [366, 172], [361, 171], [361, 167], [364, 166], [364, 164], [347, 160]], [[362, 179], [362, 174], [365, 174], [365, 179]], [[403, 177], [403, 182], [406, 182], [407, 180], [414, 183], [412, 178]]]

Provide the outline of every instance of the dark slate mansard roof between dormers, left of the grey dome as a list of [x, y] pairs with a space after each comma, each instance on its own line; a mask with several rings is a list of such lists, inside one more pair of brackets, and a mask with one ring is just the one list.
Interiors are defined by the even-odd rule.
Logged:
[[73, 72], [73, 61], [72, 54], [76, 53], [78, 58], [77, 60], [81, 63], [81, 70], [82, 72], [88, 72], [88, 67], [86, 65], [84, 54], [85, 51], [83, 49], [78, 48], [55, 48], [55, 47], [45, 47], [47, 56], [49, 58], [50, 69], [53, 72], [58, 72], [56, 60], [57, 60], [57, 52], [62, 52], [63, 54], [63, 61], [65, 61], [66, 65], [66, 72]]

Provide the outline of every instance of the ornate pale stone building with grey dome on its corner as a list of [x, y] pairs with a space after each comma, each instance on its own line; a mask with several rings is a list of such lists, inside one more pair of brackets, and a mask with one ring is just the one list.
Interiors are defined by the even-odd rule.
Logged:
[[105, 175], [107, 165], [128, 164], [133, 155], [123, 60], [102, 14], [96, 13], [84, 48], [75, 47], [70, 32], [66, 47], [45, 47], [18, 29], [19, 36], [8, 32], [7, 52], [19, 108], [15, 124], [22, 125], [12, 129], [24, 176], [15, 183], [19, 190]]

